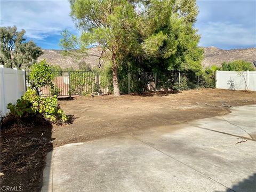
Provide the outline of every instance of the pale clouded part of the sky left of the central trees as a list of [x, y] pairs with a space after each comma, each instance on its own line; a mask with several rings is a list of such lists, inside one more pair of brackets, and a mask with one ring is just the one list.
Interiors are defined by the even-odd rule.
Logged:
[[25, 29], [28, 38], [43, 40], [64, 29], [76, 31], [68, 1], [1, 1], [1, 26]]

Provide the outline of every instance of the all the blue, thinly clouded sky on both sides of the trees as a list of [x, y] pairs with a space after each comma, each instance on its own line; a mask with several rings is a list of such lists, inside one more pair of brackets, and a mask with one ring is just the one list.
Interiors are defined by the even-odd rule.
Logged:
[[[199, 46], [256, 47], [256, 1], [197, 1], [197, 5]], [[27, 39], [43, 49], [60, 49], [63, 29], [78, 33], [69, 12], [68, 1], [1, 0], [0, 24], [25, 29]]]

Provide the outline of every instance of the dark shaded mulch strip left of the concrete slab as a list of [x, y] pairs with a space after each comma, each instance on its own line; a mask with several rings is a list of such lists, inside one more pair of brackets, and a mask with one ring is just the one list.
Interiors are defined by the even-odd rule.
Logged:
[[[31, 122], [31, 121], [30, 121]], [[52, 125], [44, 122], [1, 124], [1, 187], [40, 191]], [[10, 191], [14, 191], [10, 190]]]

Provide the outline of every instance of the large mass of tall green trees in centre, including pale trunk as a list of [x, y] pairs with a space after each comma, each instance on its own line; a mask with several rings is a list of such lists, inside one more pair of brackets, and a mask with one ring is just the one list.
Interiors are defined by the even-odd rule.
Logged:
[[63, 31], [60, 45], [66, 53], [81, 55], [97, 43], [99, 58], [111, 62], [114, 95], [119, 95], [117, 73], [122, 70], [202, 70], [203, 50], [193, 27], [195, 0], [70, 0], [70, 6], [82, 35]]

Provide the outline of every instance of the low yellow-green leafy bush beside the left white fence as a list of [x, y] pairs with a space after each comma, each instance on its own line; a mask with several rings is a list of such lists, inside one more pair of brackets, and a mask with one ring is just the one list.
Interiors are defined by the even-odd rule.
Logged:
[[64, 114], [57, 102], [57, 96], [42, 98], [36, 94], [35, 90], [29, 89], [16, 105], [9, 103], [10, 115], [14, 118], [22, 119], [28, 116], [40, 115], [51, 123], [65, 123], [68, 116]]

